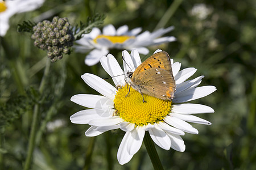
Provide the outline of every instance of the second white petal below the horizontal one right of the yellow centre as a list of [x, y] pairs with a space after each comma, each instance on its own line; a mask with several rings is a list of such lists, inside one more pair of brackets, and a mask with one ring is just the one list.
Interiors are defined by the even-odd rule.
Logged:
[[198, 134], [198, 130], [196, 128], [193, 128], [193, 126], [183, 120], [180, 120], [179, 118], [173, 116], [166, 116], [166, 118], [164, 118], [164, 121], [167, 122], [167, 124], [174, 126], [177, 129], [183, 130], [187, 133]]

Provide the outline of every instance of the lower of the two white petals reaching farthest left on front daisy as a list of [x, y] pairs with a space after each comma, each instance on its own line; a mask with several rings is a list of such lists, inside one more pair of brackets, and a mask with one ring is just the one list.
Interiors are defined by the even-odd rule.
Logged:
[[90, 120], [96, 118], [103, 118], [112, 116], [114, 109], [87, 109], [83, 111], [76, 112], [70, 117], [70, 120], [73, 124], [88, 124]]

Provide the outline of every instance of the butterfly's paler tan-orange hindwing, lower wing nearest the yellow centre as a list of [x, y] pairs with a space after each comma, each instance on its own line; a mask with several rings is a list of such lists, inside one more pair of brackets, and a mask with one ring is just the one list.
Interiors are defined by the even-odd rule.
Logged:
[[160, 68], [150, 68], [139, 72], [132, 83], [132, 87], [134, 86], [142, 94], [162, 100], [173, 99], [176, 88], [174, 76], [169, 71]]

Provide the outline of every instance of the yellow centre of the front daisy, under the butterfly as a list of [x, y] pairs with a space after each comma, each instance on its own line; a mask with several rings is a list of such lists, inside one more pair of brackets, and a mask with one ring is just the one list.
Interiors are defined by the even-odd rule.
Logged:
[[118, 89], [114, 99], [115, 114], [135, 126], [163, 121], [163, 118], [171, 111], [171, 101], [143, 95], [146, 101], [143, 103], [142, 95], [138, 91], [131, 88], [129, 94], [128, 92], [127, 84]]

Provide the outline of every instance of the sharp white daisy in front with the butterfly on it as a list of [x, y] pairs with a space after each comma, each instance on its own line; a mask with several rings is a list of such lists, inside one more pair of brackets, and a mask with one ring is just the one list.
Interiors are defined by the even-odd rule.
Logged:
[[[159, 52], [157, 50], [156, 52]], [[126, 131], [118, 148], [117, 159], [120, 164], [125, 164], [141, 148], [145, 131], [148, 131], [152, 141], [164, 150], [173, 148], [183, 152], [185, 145], [180, 137], [184, 132], [198, 134], [198, 130], [187, 122], [210, 125], [202, 118], [193, 116], [196, 113], [213, 113], [213, 109], [201, 104], [184, 103], [199, 99], [214, 92], [214, 86], [197, 87], [204, 76], [187, 80], [197, 69], [187, 68], [180, 71], [181, 63], [173, 61], [172, 71], [176, 81], [176, 92], [172, 101], [161, 100], [156, 97], [143, 95], [147, 103], [143, 103], [138, 91], [130, 89], [125, 82], [127, 70], [134, 71], [141, 65], [141, 58], [137, 50], [129, 54], [123, 51], [124, 70], [121, 69], [112, 54], [101, 57], [100, 62], [106, 72], [112, 76], [115, 88], [104, 79], [89, 73], [82, 75], [88, 86], [100, 92], [100, 95], [80, 94], [71, 97], [71, 101], [90, 108], [79, 111], [70, 117], [75, 124], [89, 124], [91, 127], [85, 132], [87, 137], [94, 137], [105, 131], [120, 128]], [[129, 67], [127, 66], [129, 65]], [[120, 76], [116, 76], [120, 75]], [[187, 81], [186, 81], [187, 80]]]

